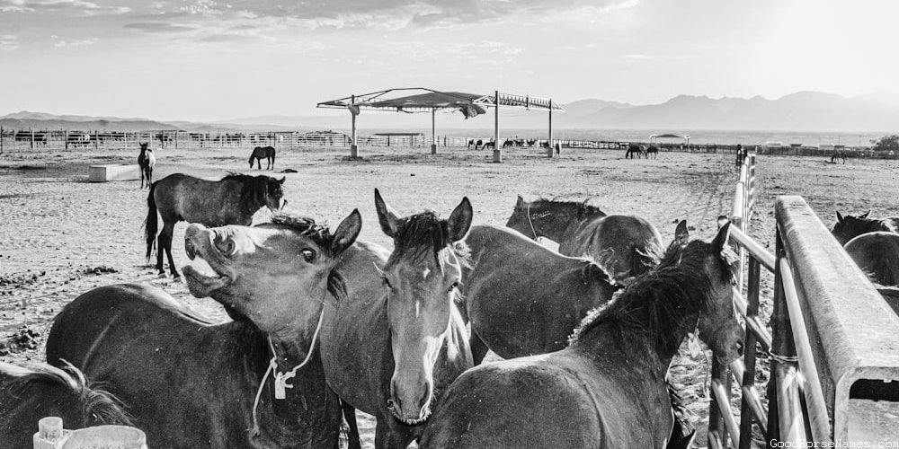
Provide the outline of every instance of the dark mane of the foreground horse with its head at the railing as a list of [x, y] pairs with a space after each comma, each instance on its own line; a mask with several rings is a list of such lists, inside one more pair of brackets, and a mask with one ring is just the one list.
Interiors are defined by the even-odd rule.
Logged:
[[[609, 303], [593, 309], [569, 338], [572, 344], [603, 323], [617, 322], [629, 333], [654, 334], [656, 349], [676, 351], [681, 345], [677, 330], [695, 323], [686, 322], [690, 315], [708, 310], [712, 304], [710, 279], [702, 264], [708, 253], [706, 242], [694, 241], [686, 246], [672, 243], [659, 266], [617, 292]], [[734, 263], [734, 252], [725, 245], [721, 263]], [[732, 277], [730, 269], [725, 276]]]

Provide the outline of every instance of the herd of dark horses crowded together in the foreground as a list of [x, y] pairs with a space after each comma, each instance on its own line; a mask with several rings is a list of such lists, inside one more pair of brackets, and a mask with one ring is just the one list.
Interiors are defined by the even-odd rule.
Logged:
[[[188, 289], [231, 321], [146, 284], [80, 295], [47, 364], [0, 364], [0, 448], [29, 446], [44, 416], [138, 427], [150, 447], [359, 448], [357, 409], [378, 448], [689, 447], [672, 357], [690, 334], [725, 364], [742, 350], [726, 222], [704, 242], [681, 221], [664, 245], [586, 202], [519, 197], [505, 226], [476, 225], [468, 198], [405, 215], [375, 189], [389, 250], [357, 239], [358, 209], [333, 230], [285, 213], [284, 182], [152, 182], [147, 259], [156, 242], [156, 268], [165, 252], [179, 277], [172, 230], [191, 223]], [[263, 207], [271, 220], [250, 226]], [[895, 286], [899, 243], [882, 242], [899, 218], [837, 218], [834, 237]], [[488, 350], [504, 360], [482, 363]]]

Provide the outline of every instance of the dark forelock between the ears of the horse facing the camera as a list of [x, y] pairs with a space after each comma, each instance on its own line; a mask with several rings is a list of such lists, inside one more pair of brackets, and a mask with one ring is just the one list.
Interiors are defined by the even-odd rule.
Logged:
[[[431, 254], [441, 258], [441, 250], [449, 248], [464, 265], [471, 259], [471, 251], [463, 242], [449, 240], [449, 221], [441, 219], [432, 210], [399, 219], [394, 233], [394, 251], [390, 260], [409, 256], [423, 257]], [[389, 260], [388, 260], [389, 263]]]

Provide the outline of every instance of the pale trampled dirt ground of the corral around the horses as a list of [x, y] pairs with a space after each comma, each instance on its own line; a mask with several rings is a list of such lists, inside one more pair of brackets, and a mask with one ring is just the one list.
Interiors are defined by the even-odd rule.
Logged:
[[[275, 172], [286, 176], [288, 209], [335, 225], [358, 207], [363, 218], [360, 239], [390, 247], [377, 225], [372, 191], [410, 214], [432, 208], [446, 216], [467, 196], [476, 224], [504, 225], [515, 196], [583, 200], [607, 213], [644, 216], [670, 242], [674, 225], [686, 219], [693, 237], [709, 239], [716, 218], [729, 214], [736, 172], [733, 154], [662, 153], [658, 159], [624, 159], [624, 151], [567, 150], [547, 160], [537, 149], [513, 150], [502, 164], [487, 152], [448, 149], [438, 155], [421, 148], [362, 148], [360, 161], [345, 161], [346, 150], [310, 149], [278, 154]], [[88, 166], [136, 163], [136, 150], [41, 151], [6, 149], [0, 154], [0, 360], [42, 360], [49, 322], [60, 308], [95, 286], [148, 282], [165, 288], [213, 319], [226, 315], [213, 301], [198, 300], [186, 287], [156, 277], [144, 260], [142, 224], [147, 190], [138, 181], [91, 183]], [[248, 149], [162, 150], [156, 179], [173, 172], [218, 178], [248, 170]], [[773, 204], [777, 195], [802, 195], [825, 225], [834, 210], [872, 216], [899, 216], [899, 163], [850, 159], [845, 165], [819, 158], [761, 156], [758, 161], [756, 216], [750, 233], [773, 248]], [[264, 220], [260, 212], [256, 220]], [[179, 266], [186, 225], [175, 228]], [[550, 243], [547, 243], [551, 245]], [[763, 295], [770, 297], [770, 278]], [[770, 299], [762, 313], [770, 313]], [[683, 389], [704, 446], [708, 397], [702, 357], [676, 357], [674, 383]], [[768, 378], [762, 369], [759, 379]], [[764, 391], [760, 391], [764, 394]], [[371, 446], [373, 422], [361, 423], [365, 447]]]

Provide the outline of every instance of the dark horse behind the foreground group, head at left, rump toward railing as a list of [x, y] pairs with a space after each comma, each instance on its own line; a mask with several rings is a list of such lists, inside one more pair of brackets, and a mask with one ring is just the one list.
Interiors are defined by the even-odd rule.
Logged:
[[639, 216], [607, 216], [599, 207], [539, 198], [515, 203], [506, 226], [533, 239], [559, 243], [566, 256], [587, 256], [623, 279], [645, 273], [658, 261], [662, 236]]

